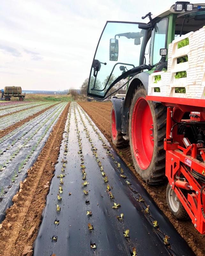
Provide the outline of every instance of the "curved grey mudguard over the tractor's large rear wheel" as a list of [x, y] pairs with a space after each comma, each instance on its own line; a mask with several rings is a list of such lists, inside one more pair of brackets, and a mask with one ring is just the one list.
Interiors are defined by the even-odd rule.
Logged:
[[128, 87], [128, 90], [126, 92], [125, 97], [125, 107], [129, 108], [132, 95], [137, 87], [139, 87], [140, 84], [143, 84], [145, 87], [146, 92], [148, 93], [148, 81], [149, 81], [149, 73], [148, 72], [141, 72], [135, 76], [133, 76], [131, 83]]

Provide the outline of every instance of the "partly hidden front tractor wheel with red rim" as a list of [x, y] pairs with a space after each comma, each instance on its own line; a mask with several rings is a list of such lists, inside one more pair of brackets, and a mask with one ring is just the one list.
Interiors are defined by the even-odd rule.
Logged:
[[110, 111], [110, 129], [111, 129], [111, 137], [112, 143], [115, 145], [116, 148], [124, 148], [128, 146], [128, 142], [123, 139], [122, 132], [118, 132], [116, 129], [116, 122], [115, 122], [115, 110], [112, 105]]

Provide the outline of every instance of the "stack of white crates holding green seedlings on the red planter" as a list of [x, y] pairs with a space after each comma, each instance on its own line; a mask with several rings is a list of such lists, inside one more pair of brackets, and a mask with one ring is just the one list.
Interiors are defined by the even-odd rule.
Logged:
[[[178, 43], [186, 38], [189, 44], [178, 48]], [[188, 61], [177, 63], [178, 58], [186, 55]], [[186, 77], [175, 78], [182, 71], [186, 71]], [[154, 83], [155, 76], [159, 75], [161, 80]], [[186, 93], [184, 89], [183, 93], [175, 92], [176, 87], [185, 88]], [[148, 95], [205, 99], [205, 28], [183, 35], [169, 44], [167, 72], [155, 72], [149, 76]]]

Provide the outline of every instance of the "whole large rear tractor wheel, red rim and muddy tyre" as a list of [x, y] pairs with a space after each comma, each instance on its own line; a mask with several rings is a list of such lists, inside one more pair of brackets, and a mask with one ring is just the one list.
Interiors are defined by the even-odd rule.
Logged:
[[164, 138], [166, 110], [161, 103], [147, 101], [143, 85], [135, 90], [130, 106], [129, 137], [133, 164], [140, 177], [150, 185], [165, 176]]

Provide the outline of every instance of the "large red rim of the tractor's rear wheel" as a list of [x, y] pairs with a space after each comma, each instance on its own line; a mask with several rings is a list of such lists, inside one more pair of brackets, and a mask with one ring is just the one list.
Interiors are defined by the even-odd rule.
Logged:
[[154, 150], [153, 119], [149, 104], [140, 97], [134, 106], [132, 117], [132, 143], [135, 159], [141, 169], [151, 163]]

